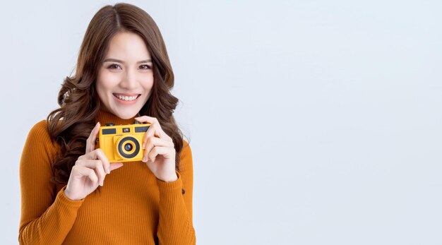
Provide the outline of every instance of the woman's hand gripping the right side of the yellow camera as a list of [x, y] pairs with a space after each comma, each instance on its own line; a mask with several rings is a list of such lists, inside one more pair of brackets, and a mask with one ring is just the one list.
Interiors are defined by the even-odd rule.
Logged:
[[139, 122], [150, 123], [143, 138], [142, 161], [148, 165], [157, 179], [166, 182], [176, 181], [178, 179], [175, 172], [176, 153], [172, 138], [162, 131], [160, 122], [155, 117], [140, 116], [135, 119]]

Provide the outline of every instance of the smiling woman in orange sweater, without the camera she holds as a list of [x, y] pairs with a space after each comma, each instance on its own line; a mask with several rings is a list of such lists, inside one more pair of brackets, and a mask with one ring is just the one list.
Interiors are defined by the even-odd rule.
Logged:
[[[193, 165], [172, 112], [178, 100], [154, 20], [104, 6], [64, 80], [60, 108], [30, 130], [20, 158], [20, 244], [195, 244]], [[150, 123], [143, 160], [109, 162], [107, 123]]]

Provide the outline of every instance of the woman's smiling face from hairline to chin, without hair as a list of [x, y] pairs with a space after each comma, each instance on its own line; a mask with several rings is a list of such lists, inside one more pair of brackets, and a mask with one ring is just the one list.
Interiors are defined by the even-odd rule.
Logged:
[[119, 32], [112, 37], [95, 84], [101, 109], [121, 119], [136, 116], [152, 92], [152, 66], [140, 36]]

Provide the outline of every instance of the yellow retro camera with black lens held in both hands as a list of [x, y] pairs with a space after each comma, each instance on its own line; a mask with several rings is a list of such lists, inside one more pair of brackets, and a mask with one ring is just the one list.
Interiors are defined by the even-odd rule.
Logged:
[[109, 162], [133, 162], [143, 159], [143, 136], [150, 124], [135, 121], [134, 124], [114, 126], [105, 124], [98, 133], [98, 147]]

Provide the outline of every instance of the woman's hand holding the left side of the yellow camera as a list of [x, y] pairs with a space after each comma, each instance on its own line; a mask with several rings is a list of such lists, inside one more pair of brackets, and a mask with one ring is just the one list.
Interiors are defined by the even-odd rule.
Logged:
[[64, 195], [71, 200], [78, 201], [85, 198], [95, 191], [98, 185], [103, 186], [106, 174], [123, 166], [121, 162], [109, 163], [103, 151], [100, 148], [95, 149], [95, 139], [99, 131], [100, 123], [97, 123], [86, 141], [85, 155], [80, 155], [72, 167], [64, 190]]

